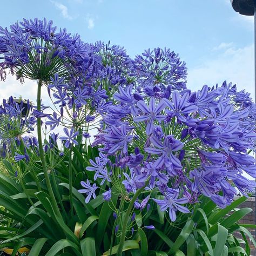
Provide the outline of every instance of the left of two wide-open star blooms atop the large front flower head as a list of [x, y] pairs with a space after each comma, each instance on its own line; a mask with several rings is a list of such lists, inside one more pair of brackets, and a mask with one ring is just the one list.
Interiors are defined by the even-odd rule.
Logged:
[[146, 126], [146, 134], [150, 135], [153, 131], [154, 120], [161, 121], [165, 119], [164, 114], [159, 114], [159, 113], [165, 108], [166, 104], [163, 101], [161, 101], [156, 106], [156, 100], [154, 99], [154, 97], [151, 97], [149, 106], [147, 106], [143, 100], [139, 100], [139, 102], [137, 102], [137, 106], [145, 114], [134, 117], [133, 120], [135, 122], [142, 122], [145, 120], [149, 120], [149, 123]]

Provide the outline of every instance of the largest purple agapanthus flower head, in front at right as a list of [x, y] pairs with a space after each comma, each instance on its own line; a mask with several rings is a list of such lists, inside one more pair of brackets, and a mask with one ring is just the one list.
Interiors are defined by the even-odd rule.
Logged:
[[192, 92], [173, 79], [163, 86], [143, 74], [125, 89], [119, 86], [93, 142], [102, 145], [101, 158], [112, 161], [91, 163], [95, 180], [104, 177], [118, 187], [120, 179], [128, 195], [144, 186], [149, 194], [158, 191], [163, 199], [152, 199], [172, 221], [177, 211], [188, 213], [187, 203], [201, 195], [226, 207], [237, 194], [235, 187], [244, 196], [253, 191], [255, 183], [244, 172], [256, 178], [255, 159], [248, 154], [255, 150], [252, 99], [242, 100], [245, 92], [226, 82]]

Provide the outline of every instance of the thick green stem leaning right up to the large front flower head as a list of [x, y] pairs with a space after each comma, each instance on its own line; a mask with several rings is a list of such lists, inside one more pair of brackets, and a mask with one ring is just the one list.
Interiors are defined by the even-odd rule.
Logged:
[[143, 187], [139, 188], [136, 191], [136, 193], [134, 194], [134, 196], [132, 197], [132, 199], [130, 201], [130, 204], [125, 213], [125, 218], [124, 218], [124, 222], [123, 222], [123, 230], [122, 230], [122, 234], [121, 234], [121, 238], [120, 238], [120, 242], [119, 242], [119, 246], [118, 246], [118, 250], [117, 250], [117, 256], [122, 256], [124, 241], [125, 241], [125, 234], [126, 234], [126, 227], [127, 227], [128, 221], [129, 221], [129, 217], [130, 217], [130, 213], [133, 208], [133, 205], [134, 205], [136, 199], [139, 197], [140, 193], [142, 193], [142, 191], [148, 184], [149, 184], [149, 180], [146, 181], [146, 183]]

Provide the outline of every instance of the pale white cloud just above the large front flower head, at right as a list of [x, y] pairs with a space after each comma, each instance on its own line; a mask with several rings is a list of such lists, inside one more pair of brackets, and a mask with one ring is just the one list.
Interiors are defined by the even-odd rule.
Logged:
[[188, 69], [187, 86], [201, 89], [204, 84], [221, 85], [224, 80], [237, 84], [238, 90], [245, 89], [254, 99], [254, 46], [236, 49], [233, 46], [220, 52], [200, 66]]

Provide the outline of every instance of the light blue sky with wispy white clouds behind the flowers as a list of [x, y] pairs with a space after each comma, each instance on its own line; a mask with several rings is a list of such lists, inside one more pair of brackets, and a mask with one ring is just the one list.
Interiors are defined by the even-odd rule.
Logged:
[[[2, 8], [3, 27], [23, 17], [46, 17], [85, 42], [110, 40], [131, 56], [166, 46], [186, 61], [192, 90], [226, 79], [254, 93], [253, 19], [235, 13], [229, 0], [12, 0]], [[0, 82], [0, 98], [33, 99], [31, 83], [21, 90], [8, 78]]]

